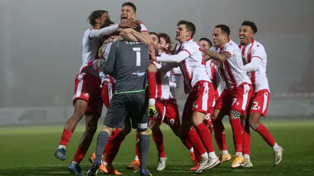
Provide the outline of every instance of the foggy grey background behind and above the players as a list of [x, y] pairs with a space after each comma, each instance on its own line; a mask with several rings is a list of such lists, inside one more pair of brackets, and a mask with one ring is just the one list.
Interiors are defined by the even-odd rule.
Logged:
[[[93, 10], [119, 23], [125, 0], [0, 0], [0, 125], [64, 122], [73, 113], [74, 80], [82, 64], [82, 37]], [[255, 40], [267, 53], [271, 116], [314, 114], [313, 0], [132, 0], [136, 19], [173, 42], [176, 23], [196, 25], [195, 40], [215, 25], [231, 28], [239, 43], [244, 20], [257, 24]], [[224, 88], [224, 87], [222, 87]], [[186, 95], [177, 91], [180, 108]], [[105, 108], [104, 108], [105, 111]]]

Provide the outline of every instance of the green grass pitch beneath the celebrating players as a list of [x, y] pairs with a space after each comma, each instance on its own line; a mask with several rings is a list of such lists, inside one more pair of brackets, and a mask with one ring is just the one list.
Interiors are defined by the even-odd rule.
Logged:
[[[285, 152], [280, 165], [273, 165], [272, 149], [256, 133], [251, 131], [251, 161], [252, 169], [231, 169], [230, 162], [223, 163], [204, 174], [211, 176], [313, 176], [313, 134], [314, 121], [265, 121], [278, 144]], [[228, 147], [231, 154], [234, 153], [232, 132], [226, 122]], [[194, 173], [188, 172], [192, 162], [187, 150], [166, 125], [162, 125], [165, 151], [168, 164], [163, 172], [157, 172], [157, 150], [151, 140], [149, 166], [153, 176], [186, 176]], [[0, 176], [70, 176], [67, 173], [67, 165], [74, 156], [79, 138], [84, 131], [80, 126], [71, 138], [67, 146], [67, 160], [60, 161], [54, 158], [63, 126], [32, 126], [32, 127], [1, 127], [0, 128]], [[99, 128], [101, 129], [101, 128]], [[98, 134], [98, 132], [97, 132]], [[95, 150], [95, 139], [87, 154]], [[151, 138], [152, 139], [152, 138]], [[125, 175], [137, 175], [126, 170], [135, 153], [135, 135], [131, 132], [125, 139], [115, 159], [115, 168]], [[214, 143], [217, 151], [216, 144]], [[88, 157], [81, 163], [82, 170], [87, 172], [90, 167]], [[203, 175], [204, 175], [203, 174]]]

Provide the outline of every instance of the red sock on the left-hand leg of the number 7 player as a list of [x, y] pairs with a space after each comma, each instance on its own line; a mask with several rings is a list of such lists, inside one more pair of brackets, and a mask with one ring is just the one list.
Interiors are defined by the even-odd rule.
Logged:
[[217, 146], [220, 151], [226, 151], [227, 142], [226, 142], [226, 134], [225, 127], [221, 120], [212, 119], [212, 124], [214, 127], [214, 136], [217, 143]]

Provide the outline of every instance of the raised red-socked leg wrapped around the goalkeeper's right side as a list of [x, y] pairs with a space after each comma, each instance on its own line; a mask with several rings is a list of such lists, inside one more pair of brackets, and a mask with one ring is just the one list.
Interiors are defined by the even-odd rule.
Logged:
[[156, 71], [157, 68], [154, 64], [147, 67], [147, 81], [148, 81], [148, 116], [154, 117], [157, 112], [155, 109], [155, 99], [156, 99]]

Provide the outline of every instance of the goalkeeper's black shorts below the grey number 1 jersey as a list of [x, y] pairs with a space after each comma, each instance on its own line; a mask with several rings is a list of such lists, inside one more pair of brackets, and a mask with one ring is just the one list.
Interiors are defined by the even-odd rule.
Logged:
[[148, 100], [146, 92], [114, 94], [108, 107], [104, 125], [122, 128], [126, 118], [132, 121], [132, 128], [145, 131], [148, 127]]

